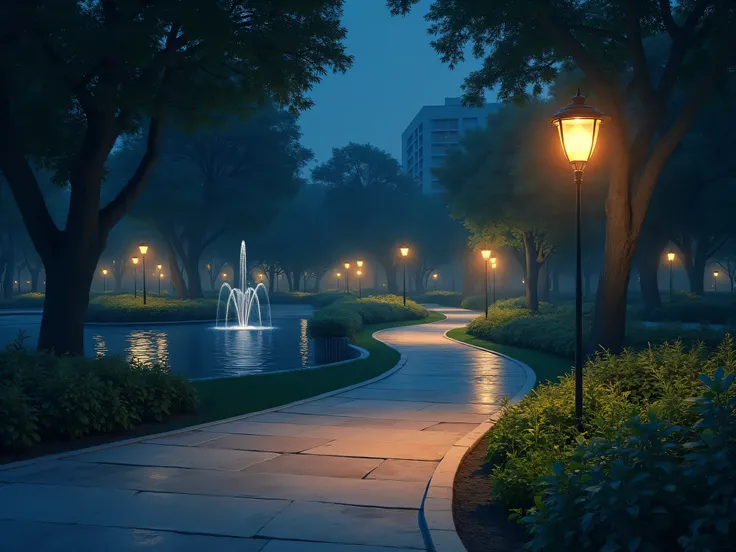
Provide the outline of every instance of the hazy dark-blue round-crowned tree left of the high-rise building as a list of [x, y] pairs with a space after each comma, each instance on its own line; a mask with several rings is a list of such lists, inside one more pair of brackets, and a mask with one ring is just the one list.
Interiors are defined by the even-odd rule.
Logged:
[[335, 217], [343, 251], [364, 251], [383, 267], [389, 293], [397, 293], [395, 262], [400, 242], [411, 237], [410, 206], [418, 186], [399, 162], [370, 144], [334, 148], [312, 179], [327, 186], [326, 210]]

